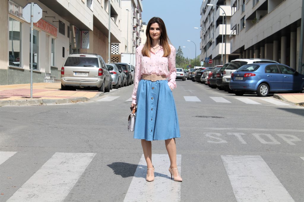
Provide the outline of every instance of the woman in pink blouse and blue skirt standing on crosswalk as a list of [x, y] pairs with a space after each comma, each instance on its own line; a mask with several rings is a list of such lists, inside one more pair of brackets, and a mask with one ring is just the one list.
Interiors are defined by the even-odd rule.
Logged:
[[[175, 137], [180, 137], [172, 90], [176, 87], [175, 48], [169, 45], [161, 18], [153, 17], [147, 25], [147, 41], [136, 48], [133, 109], [137, 105], [134, 138], [141, 139], [147, 162], [147, 181], [154, 180], [153, 140], [165, 140], [170, 159], [171, 179], [182, 181], [176, 164]], [[166, 80], [168, 78], [168, 81]]]

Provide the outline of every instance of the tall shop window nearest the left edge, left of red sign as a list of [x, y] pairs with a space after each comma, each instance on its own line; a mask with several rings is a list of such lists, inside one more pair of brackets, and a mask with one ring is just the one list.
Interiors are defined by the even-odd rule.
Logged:
[[22, 23], [9, 18], [9, 65], [20, 67]]

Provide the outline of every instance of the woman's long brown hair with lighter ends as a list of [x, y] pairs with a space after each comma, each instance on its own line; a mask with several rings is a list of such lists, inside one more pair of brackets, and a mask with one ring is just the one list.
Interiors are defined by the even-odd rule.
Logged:
[[171, 53], [171, 48], [169, 46], [170, 40], [167, 35], [165, 23], [159, 17], [153, 17], [149, 20], [148, 25], [147, 25], [147, 30], [146, 30], [147, 41], [146, 41], [145, 45], [143, 46], [141, 53], [143, 54], [143, 56], [150, 57], [150, 50], [151, 50], [151, 44], [152, 44], [152, 38], [150, 37], [150, 27], [154, 23], [157, 23], [159, 25], [159, 28], [161, 29], [160, 43], [164, 49], [163, 57], [168, 57]]

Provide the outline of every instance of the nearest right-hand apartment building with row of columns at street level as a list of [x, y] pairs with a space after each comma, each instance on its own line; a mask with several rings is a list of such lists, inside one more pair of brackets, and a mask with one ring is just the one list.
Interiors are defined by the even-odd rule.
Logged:
[[[298, 67], [302, 0], [231, 0], [230, 52]], [[302, 56], [303, 57], [303, 56]]]

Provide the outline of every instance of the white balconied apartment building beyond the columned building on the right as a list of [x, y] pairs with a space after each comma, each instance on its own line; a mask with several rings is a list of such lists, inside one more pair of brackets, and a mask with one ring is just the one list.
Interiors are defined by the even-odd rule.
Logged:
[[225, 62], [238, 58], [238, 55], [230, 52], [229, 37], [236, 33], [230, 29], [230, 18], [233, 14], [230, 4], [230, 0], [205, 0], [202, 2], [200, 9], [202, 16], [200, 22], [201, 54], [199, 58], [200, 61], [205, 61], [205, 58], [213, 60], [212, 64], [204, 63], [206, 67], [223, 65]]

